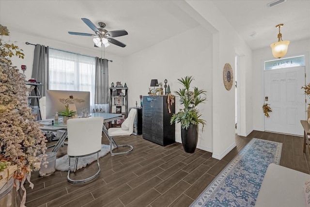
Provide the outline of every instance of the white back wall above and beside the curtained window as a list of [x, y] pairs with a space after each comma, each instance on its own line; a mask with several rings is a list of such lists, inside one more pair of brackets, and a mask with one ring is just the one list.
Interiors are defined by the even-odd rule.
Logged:
[[[33, 45], [26, 45], [26, 42], [29, 42], [31, 44], [40, 44], [40, 45], [45, 45], [49, 46], [50, 48], [57, 48], [57, 49], [62, 49], [65, 51], [70, 51], [70, 52], [75, 52], [79, 53], [82, 55], [89, 55], [93, 57], [100, 57], [101, 58], [101, 48], [94, 48], [94, 49], [87, 49], [87, 48], [79, 48], [74, 45], [68, 45], [66, 43], [62, 43], [59, 41], [51, 40], [51, 39], [46, 39], [42, 37], [37, 37], [35, 35], [28, 35], [24, 34], [21, 32], [15, 32], [11, 31], [10, 28], [10, 36], [3, 36], [2, 40], [4, 42], [11, 41], [13, 44], [18, 46], [19, 48], [23, 49], [25, 58], [16, 58], [13, 56], [11, 58], [13, 65], [17, 66], [18, 69], [21, 69], [21, 65], [27, 65], [27, 70], [25, 71], [26, 75], [26, 80], [31, 79], [31, 73], [32, 73], [32, 64], [33, 64], [33, 51], [34, 51], [34, 46]], [[86, 37], [87, 38], [87, 37]], [[91, 44], [90, 47], [93, 47]], [[113, 47], [113, 46], [109, 46]], [[114, 81], [123, 81], [124, 80], [124, 74], [120, 71], [123, 70], [123, 58], [118, 57], [113, 54], [109, 54], [109, 47], [106, 48], [106, 53], [105, 53], [105, 58], [108, 60], [112, 60], [113, 62], [109, 62], [109, 84]], [[20, 70], [20, 72], [22, 72]]]

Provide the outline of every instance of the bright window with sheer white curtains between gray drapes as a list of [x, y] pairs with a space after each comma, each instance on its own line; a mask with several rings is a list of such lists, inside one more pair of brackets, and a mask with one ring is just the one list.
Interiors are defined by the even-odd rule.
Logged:
[[95, 109], [95, 58], [50, 48], [49, 89], [89, 91], [91, 109]]

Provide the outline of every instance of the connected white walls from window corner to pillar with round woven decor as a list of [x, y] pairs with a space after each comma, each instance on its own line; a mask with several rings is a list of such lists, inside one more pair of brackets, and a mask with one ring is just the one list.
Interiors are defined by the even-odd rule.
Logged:
[[[180, 33], [126, 58], [109, 55], [106, 52], [105, 57], [113, 60], [113, 63], [109, 63], [109, 84], [116, 81], [126, 82], [129, 88], [129, 107], [133, 107], [136, 101], [139, 105], [139, 95], [147, 95], [151, 79], [161, 82], [167, 79], [171, 91], [175, 91], [180, 87], [177, 83], [178, 78], [194, 76], [195, 86], [206, 90], [208, 99], [199, 107], [207, 126], [203, 132], [200, 128], [198, 148], [211, 151], [214, 158], [222, 159], [235, 146], [234, 90], [227, 91], [224, 87], [223, 67], [226, 63], [230, 63], [234, 70], [234, 57], [240, 56], [239, 127], [241, 134], [247, 135], [253, 128], [252, 77], [255, 76], [251, 70], [252, 54], [211, 1], [186, 2], [188, 5], [179, 4], [179, 6], [185, 12], [194, 14], [193, 17], [199, 19], [202, 26]], [[91, 56], [101, 54], [98, 48], [98, 50], [86, 50], [54, 40], [10, 32], [11, 40], [18, 41], [17, 45], [25, 48], [25, 60], [14, 59], [14, 63], [18, 67], [20, 64], [27, 65], [27, 78], [31, 78], [34, 46], [24, 45], [26, 41]], [[176, 104], [177, 111], [181, 107], [178, 99]], [[180, 125], [176, 125], [177, 142], [181, 142], [180, 133]]]

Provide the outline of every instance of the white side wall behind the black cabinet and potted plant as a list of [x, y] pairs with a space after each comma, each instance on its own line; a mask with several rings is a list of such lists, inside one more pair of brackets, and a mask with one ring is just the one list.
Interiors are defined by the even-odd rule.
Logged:
[[[139, 95], [148, 96], [151, 79], [168, 80], [171, 92], [182, 85], [177, 79], [193, 76], [192, 86], [207, 91], [207, 101], [199, 105], [207, 125], [199, 128], [198, 148], [212, 151], [212, 36], [202, 26], [180, 33], [124, 59], [124, 76], [129, 87], [129, 107], [140, 105]], [[164, 83], [163, 83], [164, 84]], [[183, 106], [176, 98], [175, 111]], [[168, 110], [168, 109], [167, 109]], [[176, 141], [181, 143], [181, 125], [175, 127]]]

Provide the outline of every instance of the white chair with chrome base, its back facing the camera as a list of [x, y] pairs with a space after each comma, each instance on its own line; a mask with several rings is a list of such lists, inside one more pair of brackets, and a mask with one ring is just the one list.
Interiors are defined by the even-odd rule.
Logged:
[[[102, 117], [69, 119], [67, 122], [69, 170], [67, 180], [70, 183], [85, 183], [97, 177], [100, 173], [99, 152], [101, 150]], [[76, 172], [78, 159], [97, 154], [98, 171], [85, 179], [74, 180], [70, 178], [70, 159], [75, 158], [74, 170]]]

